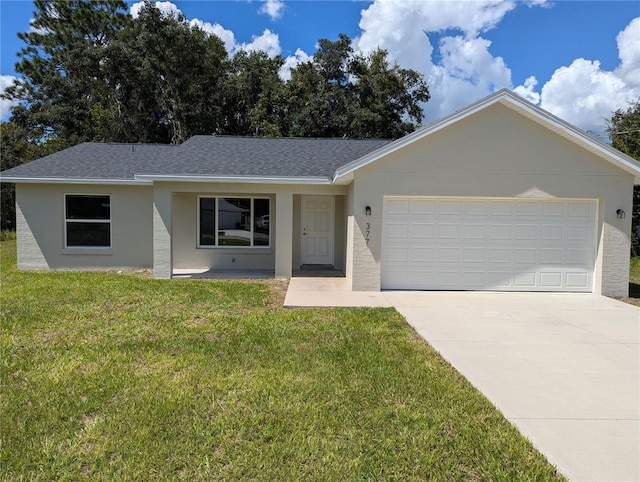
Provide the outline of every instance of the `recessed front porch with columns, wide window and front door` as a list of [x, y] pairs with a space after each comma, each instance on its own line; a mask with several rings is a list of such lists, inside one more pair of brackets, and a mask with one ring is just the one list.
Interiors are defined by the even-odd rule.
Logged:
[[344, 277], [346, 190], [303, 189], [155, 183], [154, 277]]

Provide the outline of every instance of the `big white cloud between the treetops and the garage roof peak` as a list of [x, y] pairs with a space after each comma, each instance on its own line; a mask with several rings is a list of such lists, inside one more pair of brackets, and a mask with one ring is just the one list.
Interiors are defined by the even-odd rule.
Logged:
[[[362, 12], [362, 34], [354, 45], [365, 53], [383, 48], [402, 67], [424, 74], [431, 92], [425, 115], [431, 121], [511, 86], [511, 71], [489, 52], [491, 43], [480, 33], [498, 25], [515, 7], [515, 0], [376, 0]], [[454, 33], [432, 45], [430, 33], [450, 31]]]

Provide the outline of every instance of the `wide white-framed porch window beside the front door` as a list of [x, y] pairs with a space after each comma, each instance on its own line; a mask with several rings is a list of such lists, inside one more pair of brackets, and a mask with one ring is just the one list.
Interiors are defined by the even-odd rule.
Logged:
[[199, 247], [269, 247], [269, 199], [198, 198]]

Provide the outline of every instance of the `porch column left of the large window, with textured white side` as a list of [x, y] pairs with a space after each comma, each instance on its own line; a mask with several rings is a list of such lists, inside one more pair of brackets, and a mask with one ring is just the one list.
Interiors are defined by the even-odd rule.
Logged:
[[153, 277], [169, 279], [173, 273], [171, 253], [171, 191], [153, 186]]

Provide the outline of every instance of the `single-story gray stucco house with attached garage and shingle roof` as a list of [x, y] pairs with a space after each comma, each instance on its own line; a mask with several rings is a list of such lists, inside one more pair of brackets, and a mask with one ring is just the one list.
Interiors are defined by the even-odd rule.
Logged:
[[84, 143], [1, 180], [20, 269], [323, 265], [353, 290], [627, 295], [640, 163], [500, 90], [395, 141]]

